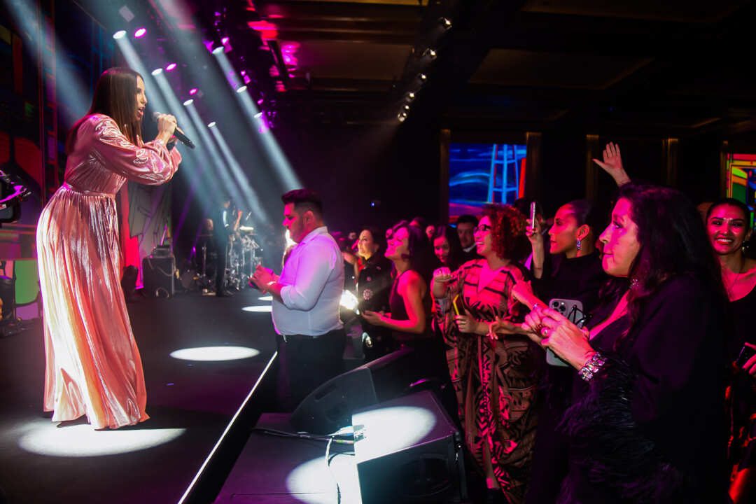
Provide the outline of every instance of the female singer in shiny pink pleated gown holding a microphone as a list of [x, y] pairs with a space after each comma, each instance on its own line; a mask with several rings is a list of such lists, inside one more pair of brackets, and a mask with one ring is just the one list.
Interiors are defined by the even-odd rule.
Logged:
[[65, 182], [37, 226], [45, 314], [45, 411], [53, 421], [86, 416], [93, 428], [149, 418], [141, 358], [120, 286], [115, 195], [125, 181], [163, 184], [181, 162], [166, 144], [175, 117], [160, 115], [153, 141], [141, 140], [147, 96], [128, 68], [98, 79], [86, 116], [66, 142]]

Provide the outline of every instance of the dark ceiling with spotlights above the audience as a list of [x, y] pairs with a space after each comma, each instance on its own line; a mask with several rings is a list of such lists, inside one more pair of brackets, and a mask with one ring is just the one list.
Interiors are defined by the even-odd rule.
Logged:
[[406, 104], [407, 121], [453, 131], [756, 129], [752, 2], [189, 3], [150, 8], [169, 32], [230, 36], [234, 66], [289, 123], [397, 122]]

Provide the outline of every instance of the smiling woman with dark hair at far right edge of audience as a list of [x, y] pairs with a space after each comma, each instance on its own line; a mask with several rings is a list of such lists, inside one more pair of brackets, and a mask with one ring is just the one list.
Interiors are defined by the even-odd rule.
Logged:
[[756, 501], [756, 261], [743, 252], [751, 234], [751, 212], [737, 199], [714, 202], [706, 215], [706, 230], [722, 267], [722, 282], [730, 300], [735, 331], [728, 341], [733, 366], [730, 383], [730, 463], [735, 467], [730, 485], [733, 502]]

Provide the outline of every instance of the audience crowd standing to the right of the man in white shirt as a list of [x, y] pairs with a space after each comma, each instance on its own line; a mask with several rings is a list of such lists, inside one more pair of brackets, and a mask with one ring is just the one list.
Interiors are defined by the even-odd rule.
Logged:
[[754, 502], [751, 211], [595, 161], [611, 215], [522, 199], [341, 237], [367, 358], [446, 364], [491, 502]]

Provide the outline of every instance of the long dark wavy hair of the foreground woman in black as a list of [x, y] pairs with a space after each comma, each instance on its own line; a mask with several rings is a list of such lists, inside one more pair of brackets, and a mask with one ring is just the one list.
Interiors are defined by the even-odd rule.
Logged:
[[627, 295], [630, 328], [649, 298], [671, 277], [696, 277], [706, 290], [714, 292], [714, 301], [724, 305], [726, 295], [720, 264], [711, 253], [701, 216], [689, 199], [668, 187], [633, 183], [620, 187], [619, 199], [630, 203], [640, 243], [630, 267], [632, 280]]

